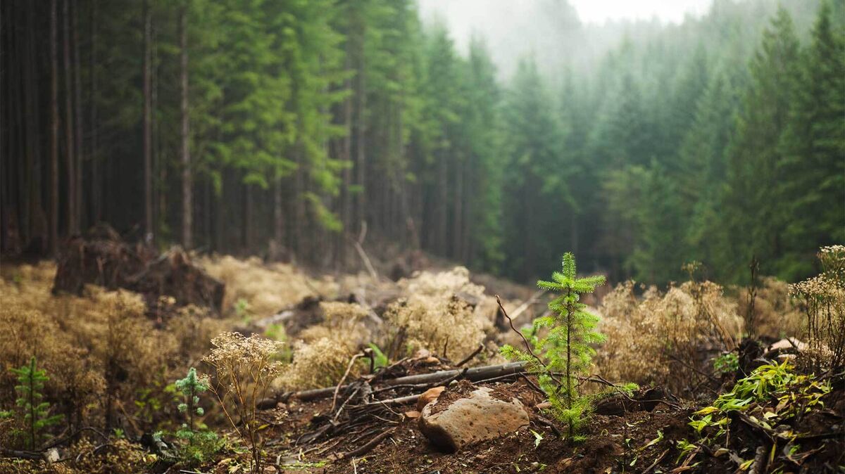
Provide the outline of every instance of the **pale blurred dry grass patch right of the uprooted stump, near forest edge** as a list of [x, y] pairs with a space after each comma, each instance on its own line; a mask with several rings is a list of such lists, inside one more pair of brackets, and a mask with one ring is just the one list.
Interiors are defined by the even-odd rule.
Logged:
[[258, 257], [204, 257], [199, 263], [212, 277], [226, 283], [224, 308], [232, 308], [243, 299], [248, 311], [259, 317], [274, 315], [308, 295], [337, 293], [337, 284], [327, 278], [315, 280], [291, 265], [264, 264]]

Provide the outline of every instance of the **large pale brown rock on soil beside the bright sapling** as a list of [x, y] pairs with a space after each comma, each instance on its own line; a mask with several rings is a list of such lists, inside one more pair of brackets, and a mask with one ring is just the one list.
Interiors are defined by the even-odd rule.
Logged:
[[528, 412], [519, 400], [493, 398], [487, 387], [451, 401], [445, 408], [438, 407], [441, 400], [426, 405], [419, 418], [420, 431], [441, 450], [454, 452], [466, 444], [498, 438], [528, 425]]

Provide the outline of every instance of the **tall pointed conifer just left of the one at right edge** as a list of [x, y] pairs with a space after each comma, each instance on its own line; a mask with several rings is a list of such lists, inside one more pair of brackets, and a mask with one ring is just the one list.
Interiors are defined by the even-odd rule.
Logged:
[[773, 262], [783, 250], [786, 223], [777, 187], [789, 177], [778, 167], [782, 161], [778, 143], [787, 127], [798, 63], [799, 42], [793, 21], [780, 8], [749, 64], [750, 84], [728, 153], [722, 208], [732, 245], [720, 263], [733, 268], [732, 277], [738, 281], [745, 274], [739, 262], [757, 256], [760, 271], [771, 274]]

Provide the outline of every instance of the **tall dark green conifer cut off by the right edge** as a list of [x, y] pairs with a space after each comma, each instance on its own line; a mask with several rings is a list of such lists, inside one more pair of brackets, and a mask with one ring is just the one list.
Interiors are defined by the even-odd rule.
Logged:
[[788, 180], [777, 187], [786, 225], [777, 271], [793, 281], [810, 276], [816, 247], [845, 240], [845, 38], [830, 2], [821, 3], [801, 58], [780, 145], [777, 166]]

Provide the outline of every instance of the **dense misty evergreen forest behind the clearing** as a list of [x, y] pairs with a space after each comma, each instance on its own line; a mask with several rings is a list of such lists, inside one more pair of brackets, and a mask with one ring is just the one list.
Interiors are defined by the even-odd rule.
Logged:
[[617, 280], [697, 260], [731, 283], [752, 257], [797, 281], [845, 241], [842, 0], [717, 0], [507, 77], [412, 0], [5, 0], [0, 16], [7, 253], [106, 221], [341, 269], [364, 228], [372, 251], [521, 281], [572, 250]]

